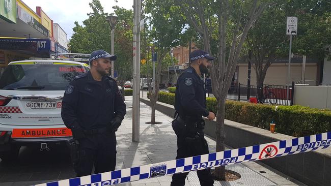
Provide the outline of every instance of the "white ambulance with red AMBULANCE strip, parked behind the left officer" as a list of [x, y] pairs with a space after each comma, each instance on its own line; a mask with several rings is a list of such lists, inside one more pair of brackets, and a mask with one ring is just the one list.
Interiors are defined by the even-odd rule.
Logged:
[[21, 146], [49, 150], [72, 139], [61, 118], [69, 82], [89, 66], [76, 61], [22, 60], [9, 63], [0, 78], [0, 158], [18, 157]]

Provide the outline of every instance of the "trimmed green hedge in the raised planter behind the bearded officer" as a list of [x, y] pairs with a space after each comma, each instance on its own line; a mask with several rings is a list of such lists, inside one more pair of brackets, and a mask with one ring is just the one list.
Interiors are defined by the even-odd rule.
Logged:
[[[158, 101], [174, 105], [175, 94], [161, 91]], [[206, 102], [207, 109], [216, 113], [216, 99], [207, 98]], [[274, 106], [227, 100], [225, 118], [266, 130], [273, 121], [276, 132], [295, 137], [331, 131], [331, 110], [299, 105]]]

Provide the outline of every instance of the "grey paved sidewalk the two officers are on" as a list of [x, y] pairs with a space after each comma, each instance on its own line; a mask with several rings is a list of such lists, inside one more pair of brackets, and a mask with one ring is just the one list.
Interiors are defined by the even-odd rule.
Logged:
[[[116, 133], [118, 144], [116, 170], [174, 160], [176, 158], [177, 138], [171, 127], [172, 118], [155, 111], [156, 121], [162, 123], [158, 125], [146, 124], [145, 122], [151, 120], [151, 108], [141, 103], [140, 142], [132, 142], [132, 97], [125, 97], [125, 99], [127, 115]], [[209, 151], [214, 152], [216, 142], [209, 138], [206, 139], [209, 144]], [[226, 169], [238, 172], [241, 174], [241, 178], [229, 182], [215, 181], [214, 185], [305, 185], [260, 162], [234, 164], [227, 166]], [[121, 185], [166, 186], [170, 185], [170, 182], [171, 176], [162, 176]], [[185, 185], [200, 185], [196, 171], [189, 173]]]

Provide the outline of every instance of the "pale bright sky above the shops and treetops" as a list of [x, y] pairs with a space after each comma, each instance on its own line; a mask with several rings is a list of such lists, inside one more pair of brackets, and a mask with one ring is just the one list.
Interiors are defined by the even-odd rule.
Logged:
[[[115, 0], [99, 1], [105, 13], [114, 12], [112, 9], [114, 5], [133, 10], [133, 0], [118, 0], [118, 3], [115, 3]], [[60, 24], [67, 33], [68, 40], [73, 34], [74, 22], [78, 21], [81, 25], [82, 21], [88, 18], [87, 13], [92, 12], [89, 6], [92, 0], [23, 0], [23, 2], [35, 12], [36, 7], [41, 7], [48, 17], [53, 20], [53, 23]]]

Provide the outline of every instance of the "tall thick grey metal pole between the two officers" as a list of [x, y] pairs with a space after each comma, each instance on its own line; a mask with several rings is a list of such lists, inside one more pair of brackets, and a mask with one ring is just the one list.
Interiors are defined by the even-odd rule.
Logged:
[[140, 127], [140, 0], [134, 0], [133, 11], [133, 100], [132, 100], [132, 141], [139, 141]]

